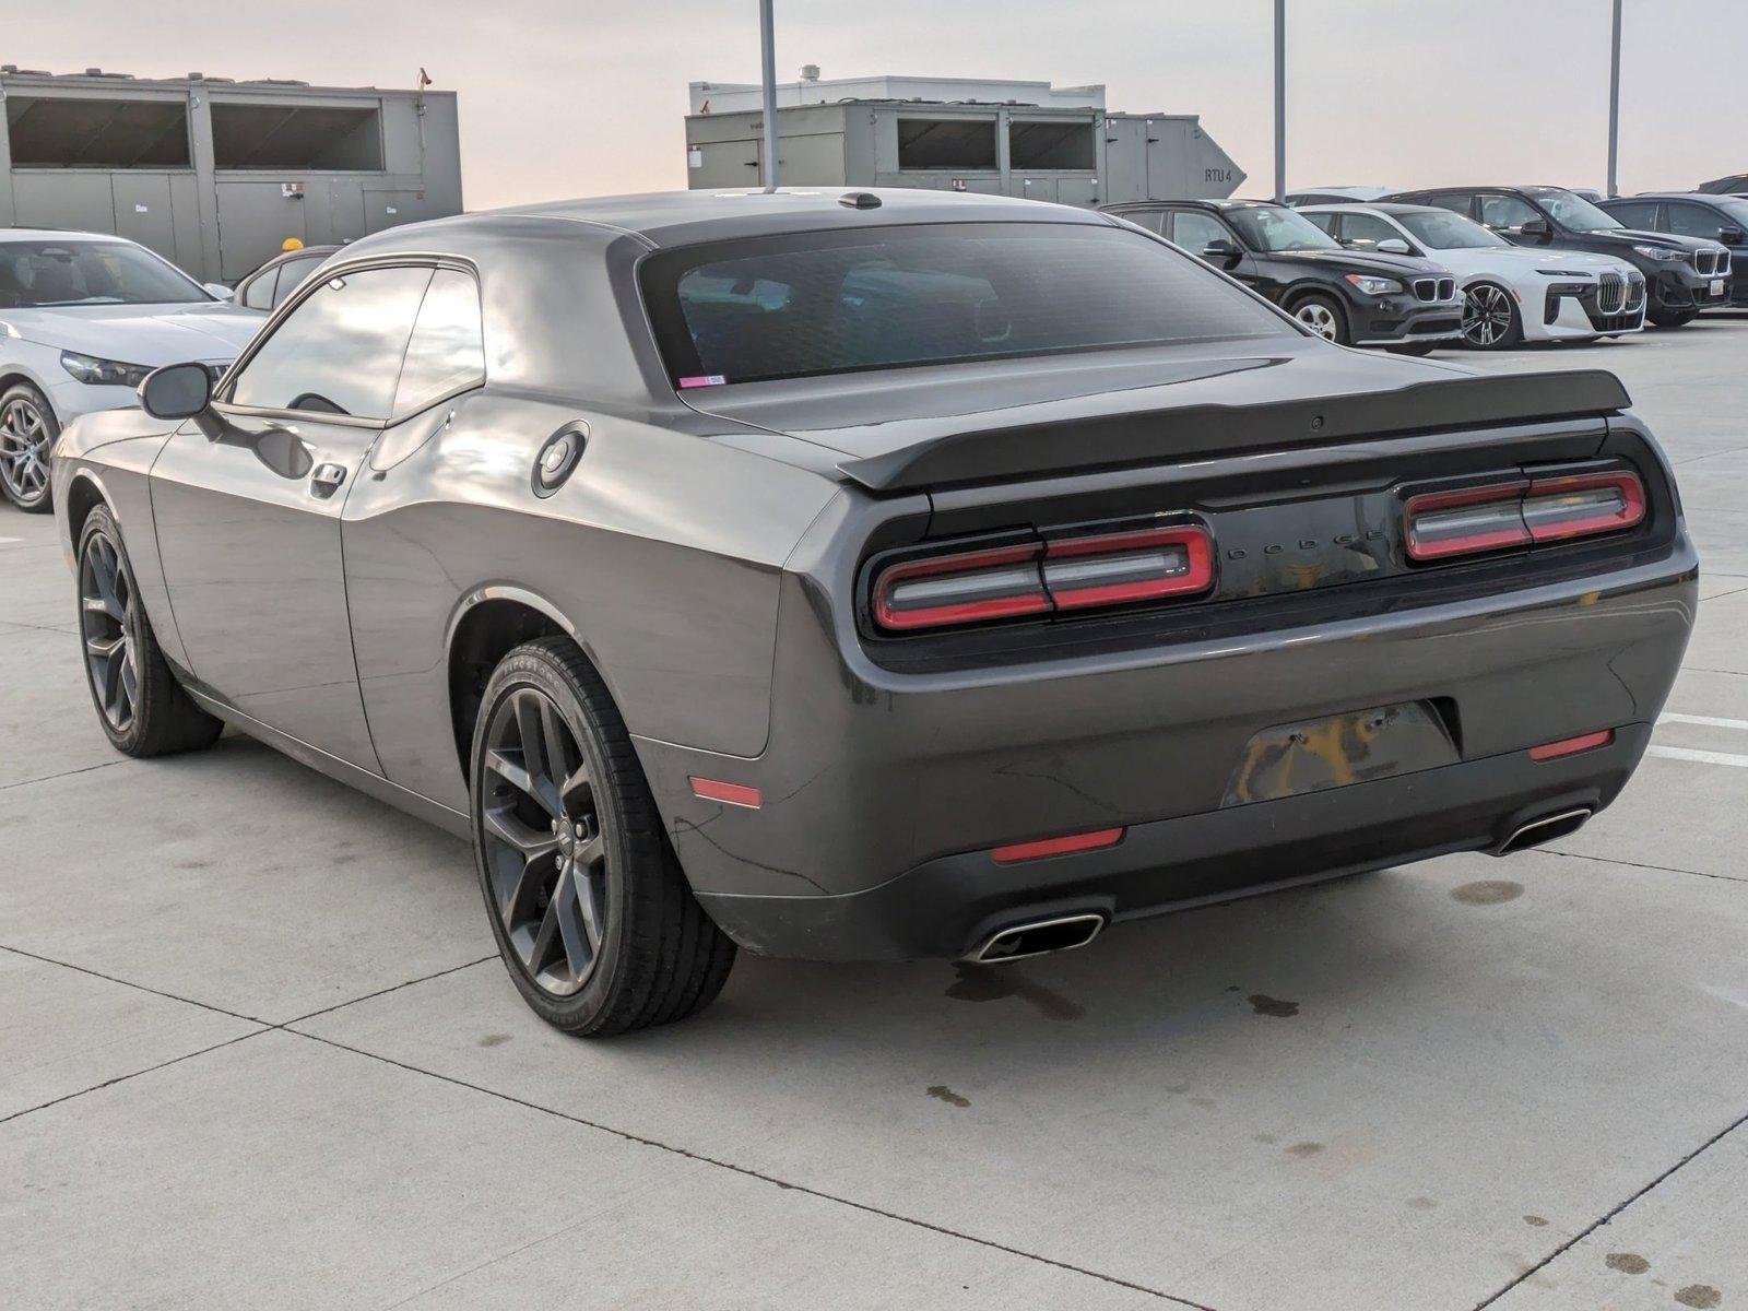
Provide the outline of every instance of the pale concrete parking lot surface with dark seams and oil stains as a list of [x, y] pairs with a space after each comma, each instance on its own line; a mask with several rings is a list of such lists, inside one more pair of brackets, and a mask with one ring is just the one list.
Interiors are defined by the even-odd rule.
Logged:
[[972, 970], [743, 956], [586, 1044], [468, 850], [225, 736], [114, 753], [0, 509], [0, 1302], [1748, 1308], [1748, 316], [1605, 367], [1699, 629], [1622, 799]]

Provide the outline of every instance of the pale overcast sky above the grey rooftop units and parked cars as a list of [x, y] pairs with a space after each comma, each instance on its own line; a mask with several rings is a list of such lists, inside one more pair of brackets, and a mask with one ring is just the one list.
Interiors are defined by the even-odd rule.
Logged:
[[[1264, 194], [1271, 0], [776, 0], [778, 75], [1105, 82], [1199, 114]], [[687, 82], [759, 79], [757, 2], [0, 0], [0, 61], [460, 93], [468, 208], [685, 185]], [[1288, 185], [1601, 187], [1610, 0], [1288, 0]], [[1748, 0], [1626, 0], [1620, 189], [1748, 171]]]

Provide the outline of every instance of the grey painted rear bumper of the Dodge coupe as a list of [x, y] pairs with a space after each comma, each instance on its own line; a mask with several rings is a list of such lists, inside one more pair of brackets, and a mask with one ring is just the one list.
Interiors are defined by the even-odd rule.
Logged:
[[[783, 580], [757, 759], [638, 738], [680, 864], [753, 951], [960, 956], [1002, 916], [1126, 918], [1280, 879], [1495, 846], [1531, 811], [1605, 806], [1680, 668], [1697, 598], [1685, 531], [1605, 573], [1421, 608], [1189, 635], [1023, 666], [895, 673], [830, 601]], [[1308, 603], [1321, 603], [1309, 598]], [[1227, 804], [1264, 729], [1409, 701], [1451, 706], [1456, 764]], [[1596, 729], [1554, 762], [1530, 746]], [[757, 788], [759, 809], [690, 778]], [[1120, 846], [996, 867], [989, 850], [1126, 827]]]

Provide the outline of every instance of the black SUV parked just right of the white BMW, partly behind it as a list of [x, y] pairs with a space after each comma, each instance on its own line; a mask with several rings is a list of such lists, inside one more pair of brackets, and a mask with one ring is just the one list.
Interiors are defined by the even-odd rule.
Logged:
[[1717, 241], [1636, 231], [1566, 187], [1444, 187], [1386, 196], [1468, 215], [1519, 246], [1615, 255], [1645, 274], [1657, 327], [1680, 327], [1701, 309], [1729, 304], [1731, 255]]

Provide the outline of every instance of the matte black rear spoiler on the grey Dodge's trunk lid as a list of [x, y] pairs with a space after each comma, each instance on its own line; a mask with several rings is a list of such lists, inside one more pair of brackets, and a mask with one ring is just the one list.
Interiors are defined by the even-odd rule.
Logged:
[[956, 432], [898, 451], [846, 460], [837, 468], [871, 491], [909, 491], [1278, 451], [1297, 442], [1612, 414], [1629, 404], [1626, 386], [1603, 369], [1451, 378], [1393, 392], [1257, 406], [1185, 406]]

